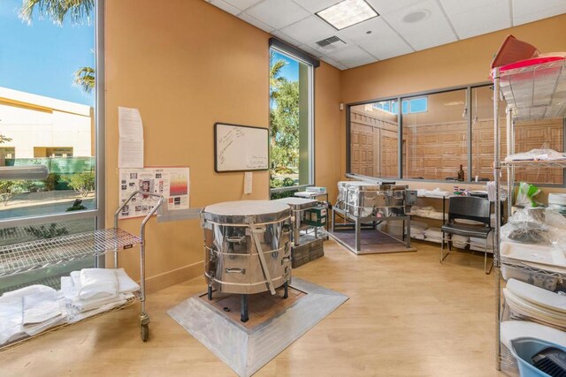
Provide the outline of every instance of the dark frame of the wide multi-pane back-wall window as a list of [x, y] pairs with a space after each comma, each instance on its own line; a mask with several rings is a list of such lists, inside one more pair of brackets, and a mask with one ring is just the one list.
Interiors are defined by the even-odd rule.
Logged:
[[[367, 104], [372, 104], [374, 102], [386, 102], [386, 101], [398, 101], [398, 103], [402, 103], [403, 100], [410, 100], [410, 99], [414, 99], [417, 97], [426, 97], [428, 95], [432, 95], [432, 94], [440, 94], [440, 93], [447, 93], [447, 92], [452, 92], [455, 90], [463, 90], [465, 89], [466, 91], [466, 107], [465, 107], [465, 111], [466, 111], [466, 122], [467, 122], [467, 128], [468, 128], [468, 171], [470, 171], [470, 174], [467, 174], [466, 179], [464, 181], [464, 183], [466, 185], [486, 185], [486, 182], [475, 182], [471, 179], [471, 174], [473, 173], [473, 171], [471, 170], [471, 164], [472, 164], [472, 111], [470, 109], [470, 103], [471, 103], [471, 91], [473, 88], [478, 88], [478, 87], [490, 87], [493, 86], [493, 83], [491, 81], [483, 81], [483, 82], [478, 82], [475, 84], [470, 84], [470, 85], [464, 85], [464, 86], [456, 86], [456, 87], [444, 87], [444, 88], [440, 88], [440, 89], [432, 89], [432, 90], [425, 90], [422, 92], [416, 92], [416, 93], [410, 93], [410, 94], [402, 94], [402, 95], [390, 95], [390, 96], [386, 96], [386, 97], [379, 97], [376, 99], [372, 99], [372, 100], [367, 100], [367, 101], [360, 101], [360, 102], [350, 102], [346, 104], [346, 177], [349, 178], [369, 178], [369, 179], [379, 179], [379, 177], [370, 177], [370, 176], [363, 176], [361, 174], [355, 174], [351, 172], [351, 151], [350, 151], [350, 128], [351, 128], [351, 108], [354, 106], [359, 106], [359, 105], [367, 105]], [[427, 100], [428, 101], [428, 100]], [[410, 108], [410, 106], [409, 106]], [[427, 110], [428, 110], [428, 103], [427, 103]], [[402, 107], [399, 111], [399, 115], [398, 115], [398, 129], [399, 129], [399, 137], [398, 137], [398, 145], [397, 145], [397, 152], [398, 152], [398, 163], [399, 163], [399, 169], [398, 169], [398, 177], [395, 178], [386, 178], [386, 179], [395, 179], [395, 180], [399, 180], [399, 181], [406, 181], [406, 182], [427, 182], [427, 183], [444, 183], [444, 184], [450, 184], [450, 181], [446, 181], [446, 180], [441, 180], [441, 179], [412, 179], [412, 178], [406, 178], [403, 177], [403, 172], [402, 172], [402, 167], [403, 167], [403, 154], [402, 154], [402, 117], [403, 117], [403, 113], [402, 113]], [[564, 148], [564, 150], [566, 151], [566, 117], [564, 117], [562, 119], [562, 127], [563, 127], [563, 131], [562, 131], [562, 146]], [[503, 144], [501, 144], [500, 147], [504, 147]], [[562, 171], [562, 185], [555, 185], [555, 184], [542, 184], [542, 183], [538, 183], [536, 184], [539, 187], [554, 187], [554, 188], [562, 188], [562, 187], [566, 187], [566, 168], [563, 169]], [[516, 182], [515, 185], [518, 185], [518, 182]]]

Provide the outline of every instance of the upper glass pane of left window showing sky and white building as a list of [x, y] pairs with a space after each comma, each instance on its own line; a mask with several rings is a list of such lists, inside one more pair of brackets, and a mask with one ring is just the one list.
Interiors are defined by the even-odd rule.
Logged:
[[21, 6], [0, 5], [0, 166], [42, 165], [49, 175], [0, 177], [0, 219], [93, 208], [94, 15], [58, 25], [36, 4], [21, 19]]

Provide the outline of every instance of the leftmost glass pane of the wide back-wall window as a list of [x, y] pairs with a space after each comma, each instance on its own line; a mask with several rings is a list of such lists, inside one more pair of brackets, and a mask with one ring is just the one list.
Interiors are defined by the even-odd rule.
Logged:
[[[388, 102], [392, 109], [398, 109], [397, 100]], [[399, 176], [398, 117], [371, 103], [350, 107], [350, 173], [367, 177]]]

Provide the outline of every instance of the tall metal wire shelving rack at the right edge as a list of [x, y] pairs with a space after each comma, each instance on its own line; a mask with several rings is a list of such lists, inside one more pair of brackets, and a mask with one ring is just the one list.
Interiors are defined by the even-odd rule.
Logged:
[[[566, 116], [566, 61], [557, 60], [543, 64], [527, 65], [521, 68], [500, 71], [493, 69], [493, 178], [496, 200], [501, 201], [501, 168], [507, 169], [508, 177], [508, 215], [511, 214], [515, 170], [522, 168], [566, 168], [566, 161], [514, 161], [501, 162], [500, 155], [500, 93], [507, 102], [507, 155], [515, 154], [515, 124], [520, 121], [560, 118]], [[501, 266], [519, 268], [566, 279], [560, 268], [547, 268], [520, 260], [501, 258], [501, 207], [495, 206], [495, 245], [493, 264], [495, 268], [496, 296], [496, 369], [501, 370], [501, 362], [514, 366], [509, 350], [501, 344]]]

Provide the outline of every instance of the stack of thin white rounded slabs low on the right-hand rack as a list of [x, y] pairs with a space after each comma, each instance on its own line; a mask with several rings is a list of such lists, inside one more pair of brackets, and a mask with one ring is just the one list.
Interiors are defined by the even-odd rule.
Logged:
[[503, 289], [512, 317], [566, 330], [566, 295], [509, 279]]

